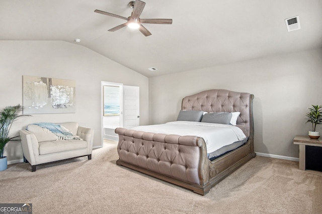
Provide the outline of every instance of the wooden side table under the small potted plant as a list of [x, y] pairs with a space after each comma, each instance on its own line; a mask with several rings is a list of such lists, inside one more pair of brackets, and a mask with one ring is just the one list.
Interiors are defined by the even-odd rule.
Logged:
[[322, 147], [322, 140], [320, 139], [311, 139], [308, 136], [295, 136], [293, 139], [294, 144], [299, 145], [299, 169], [305, 170], [305, 146], [319, 146]]

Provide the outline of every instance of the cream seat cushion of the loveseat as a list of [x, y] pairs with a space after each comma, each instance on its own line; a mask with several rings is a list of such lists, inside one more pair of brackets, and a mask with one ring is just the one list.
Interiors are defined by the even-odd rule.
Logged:
[[39, 154], [51, 154], [55, 152], [70, 151], [87, 148], [84, 140], [54, 140], [39, 143]]

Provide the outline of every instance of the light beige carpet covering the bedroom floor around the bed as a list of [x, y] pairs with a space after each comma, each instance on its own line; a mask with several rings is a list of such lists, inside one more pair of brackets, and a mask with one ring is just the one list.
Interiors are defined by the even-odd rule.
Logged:
[[257, 156], [204, 196], [116, 165], [116, 144], [80, 157], [0, 172], [1, 203], [33, 213], [322, 213], [322, 172]]

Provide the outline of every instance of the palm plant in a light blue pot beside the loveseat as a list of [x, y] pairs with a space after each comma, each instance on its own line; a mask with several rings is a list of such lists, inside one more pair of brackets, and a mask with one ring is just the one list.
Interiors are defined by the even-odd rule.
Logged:
[[7, 169], [7, 157], [4, 156], [5, 146], [11, 140], [16, 140], [15, 137], [10, 137], [9, 132], [12, 123], [21, 116], [30, 115], [19, 115], [23, 110], [23, 107], [18, 104], [16, 106], [7, 106], [0, 111], [0, 171]]

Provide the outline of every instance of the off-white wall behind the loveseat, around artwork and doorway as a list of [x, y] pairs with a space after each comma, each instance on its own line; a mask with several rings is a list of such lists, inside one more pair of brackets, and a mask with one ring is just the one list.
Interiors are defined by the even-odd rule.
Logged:
[[[61, 41], [0, 41], [0, 109], [23, 104], [22, 76], [75, 80], [76, 113], [34, 114], [14, 122], [11, 136], [34, 122], [76, 121], [95, 129], [100, 146], [101, 81], [140, 87], [140, 123], [148, 124], [148, 78], [81, 45]], [[23, 158], [20, 141], [8, 144], [9, 163]]]

